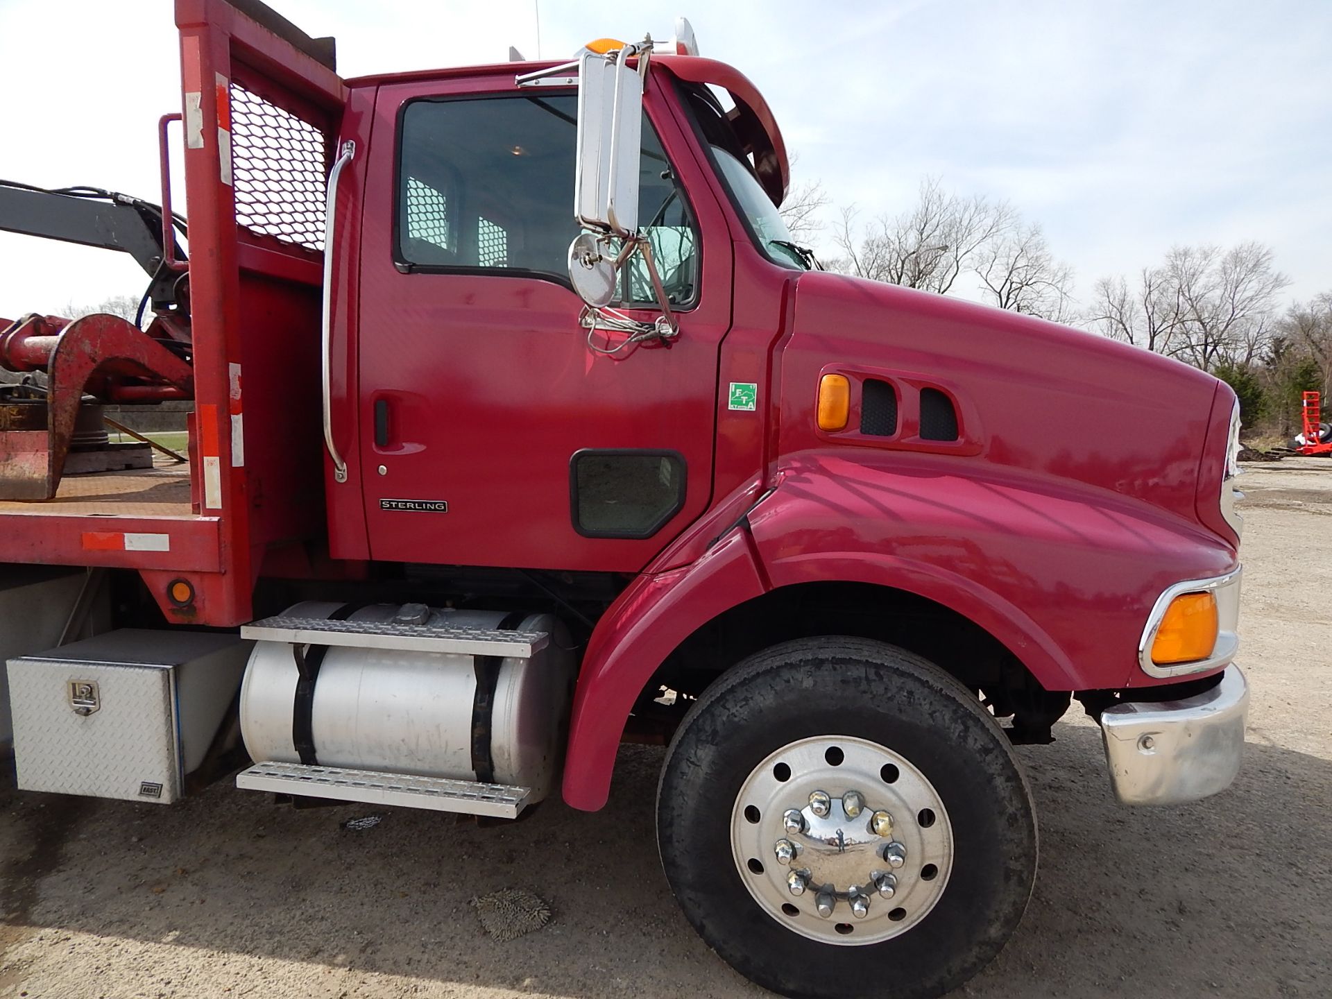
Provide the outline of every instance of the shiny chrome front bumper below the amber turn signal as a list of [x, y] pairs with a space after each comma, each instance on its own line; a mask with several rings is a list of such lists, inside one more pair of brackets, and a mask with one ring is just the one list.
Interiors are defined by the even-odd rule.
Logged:
[[1197, 697], [1102, 711], [1106, 763], [1124, 805], [1183, 805], [1229, 787], [1244, 751], [1248, 683], [1237, 666]]

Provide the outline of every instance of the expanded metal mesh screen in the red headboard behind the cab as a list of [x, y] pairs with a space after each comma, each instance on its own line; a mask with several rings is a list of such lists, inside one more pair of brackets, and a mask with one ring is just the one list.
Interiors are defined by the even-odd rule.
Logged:
[[230, 85], [236, 221], [250, 232], [324, 249], [324, 133], [289, 111]]

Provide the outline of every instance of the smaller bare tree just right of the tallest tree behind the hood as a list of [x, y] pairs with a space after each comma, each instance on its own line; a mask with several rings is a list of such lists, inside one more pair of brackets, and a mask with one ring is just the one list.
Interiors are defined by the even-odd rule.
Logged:
[[1066, 321], [1072, 312], [1074, 272], [1055, 260], [1035, 222], [1015, 228], [976, 253], [982, 294], [1000, 309]]

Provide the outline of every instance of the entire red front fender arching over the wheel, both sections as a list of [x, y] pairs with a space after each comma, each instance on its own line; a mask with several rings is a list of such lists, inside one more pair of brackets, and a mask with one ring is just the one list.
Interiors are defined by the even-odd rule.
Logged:
[[574, 697], [565, 801], [606, 803], [625, 722], [657, 667], [771, 589], [842, 581], [914, 593], [983, 627], [1047, 690], [1095, 690], [1128, 685], [1167, 586], [1233, 567], [1209, 531], [1106, 490], [951, 457], [803, 453], [723, 539], [639, 577], [598, 622]]

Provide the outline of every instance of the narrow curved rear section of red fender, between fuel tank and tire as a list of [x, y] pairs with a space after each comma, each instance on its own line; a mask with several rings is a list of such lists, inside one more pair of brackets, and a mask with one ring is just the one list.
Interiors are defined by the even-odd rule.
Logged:
[[675, 646], [765, 589], [749, 534], [731, 530], [691, 565], [641, 575], [619, 594], [578, 673], [563, 779], [569, 805], [595, 811], [606, 803], [629, 713]]

